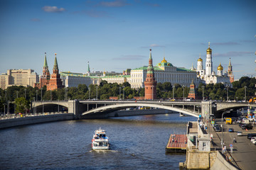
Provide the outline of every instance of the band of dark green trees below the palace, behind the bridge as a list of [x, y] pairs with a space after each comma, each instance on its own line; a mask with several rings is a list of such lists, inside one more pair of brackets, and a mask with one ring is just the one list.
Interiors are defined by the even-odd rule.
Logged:
[[[196, 96], [198, 99], [207, 98], [211, 100], [248, 100], [255, 95], [255, 78], [242, 77], [239, 81], [234, 81], [232, 86], [224, 84], [199, 84], [196, 88]], [[183, 98], [187, 97], [189, 87], [181, 86], [180, 84], [171, 84], [165, 82], [158, 83], [156, 86], [157, 98]], [[7, 103], [10, 111], [14, 112], [14, 108], [21, 107], [21, 111], [29, 108], [31, 101], [57, 101], [57, 100], [87, 100], [100, 99], [107, 100], [110, 96], [118, 98], [131, 99], [134, 96], [144, 96], [144, 88], [132, 89], [128, 82], [123, 84], [108, 84], [107, 81], [102, 81], [100, 85], [90, 84], [87, 87], [85, 84], [79, 84], [78, 87], [70, 87], [57, 89], [54, 91], [46, 91], [46, 86], [42, 89], [32, 88], [31, 86], [9, 86], [6, 90], [0, 89], [0, 113], [6, 111]], [[15, 103], [15, 104], [14, 104]]]

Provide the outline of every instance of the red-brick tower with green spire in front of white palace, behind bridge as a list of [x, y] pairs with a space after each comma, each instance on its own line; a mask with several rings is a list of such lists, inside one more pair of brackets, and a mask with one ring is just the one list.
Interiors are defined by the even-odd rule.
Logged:
[[156, 99], [156, 79], [154, 77], [153, 60], [151, 56], [151, 49], [149, 53], [149, 66], [146, 72], [146, 80], [144, 81], [145, 99]]

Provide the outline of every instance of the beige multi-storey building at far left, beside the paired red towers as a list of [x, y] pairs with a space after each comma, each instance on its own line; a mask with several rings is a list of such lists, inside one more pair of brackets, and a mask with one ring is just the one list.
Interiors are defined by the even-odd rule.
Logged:
[[34, 86], [38, 81], [38, 74], [33, 69], [8, 69], [7, 74], [0, 75], [0, 88]]

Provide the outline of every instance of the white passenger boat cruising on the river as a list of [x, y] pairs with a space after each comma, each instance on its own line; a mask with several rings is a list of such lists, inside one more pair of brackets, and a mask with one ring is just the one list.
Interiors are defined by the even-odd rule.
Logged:
[[95, 134], [92, 137], [92, 149], [110, 149], [109, 140], [106, 136], [106, 130], [95, 130]]

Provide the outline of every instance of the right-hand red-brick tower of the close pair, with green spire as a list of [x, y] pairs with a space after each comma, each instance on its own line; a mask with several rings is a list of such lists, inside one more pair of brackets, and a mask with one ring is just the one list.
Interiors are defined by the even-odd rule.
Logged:
[[54, 60], [54, 65], [53, 65], [53, 74], [50, 76], [50, 81], [49, 84], [47, 85], [47, 90], [55, 90], [55, 89], [60, 89], [63, 88], [63, 82], [60, 79], [60, 74], [59, 74], [59, 69], [58, 69], [58, 62], [57, 62], [57, 57], [55, 53], [55, 60]]

